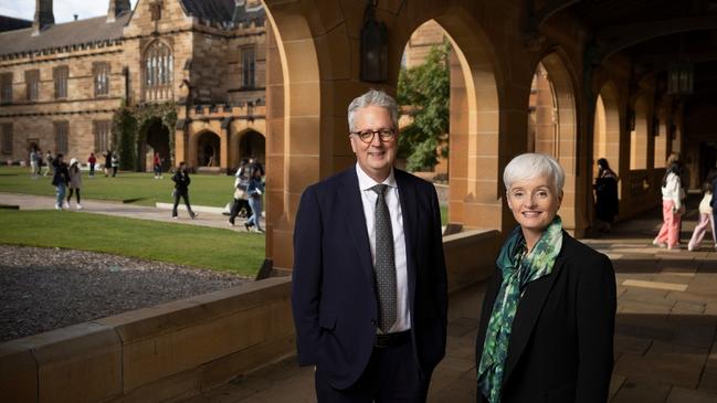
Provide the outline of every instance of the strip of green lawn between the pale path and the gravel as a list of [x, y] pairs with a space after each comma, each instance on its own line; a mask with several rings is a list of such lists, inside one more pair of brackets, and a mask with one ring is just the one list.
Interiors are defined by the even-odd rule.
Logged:
[[264, 236], [196, 225], [67, 211], [0, 209], [0, 243], [162, 261], [254, 277]]

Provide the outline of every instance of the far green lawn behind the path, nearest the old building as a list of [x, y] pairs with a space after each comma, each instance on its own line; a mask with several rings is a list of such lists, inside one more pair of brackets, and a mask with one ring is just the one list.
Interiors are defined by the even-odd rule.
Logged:
[[[175, 182], [170, 178], [171, 173], [166, 173], [165, 179], [155, 179], [151, 172], [119, 172], [116, 178], [105, 178], [98, 172], [89, 178], [87, 171], [83, 171], [82, 197], [141, 205], [171, 203]], [[54, 195], [51, 180], [50, 177], [32, 179], [30, 168], [0, 167], [0, 192]], [[189, 192], [192, 204], [220, 208], [232, 200], [234, 177], [192, 174]]]

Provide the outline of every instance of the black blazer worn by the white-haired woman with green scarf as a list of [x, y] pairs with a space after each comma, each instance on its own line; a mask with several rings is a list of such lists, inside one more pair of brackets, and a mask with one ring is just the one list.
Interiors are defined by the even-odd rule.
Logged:
[[[497, 271], [483, 301], [476, 369], [502, 280]], [[615, 304], [610, 259], [563, 232], [552, 273], [529, 283], [518, 305], [500, 402], [604, 403], [612, 373]], [[479, 389], [477, 402], [486, 402]]]

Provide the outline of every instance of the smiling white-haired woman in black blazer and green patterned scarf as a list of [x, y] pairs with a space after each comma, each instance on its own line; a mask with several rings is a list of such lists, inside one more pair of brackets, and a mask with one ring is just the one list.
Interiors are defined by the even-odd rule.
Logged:
[[476, 343], [478, 402], [605, 402], [612, 372], [612, 264], [562, 230], [565, 172], [524, 153], [505, 168], [508, 235]]

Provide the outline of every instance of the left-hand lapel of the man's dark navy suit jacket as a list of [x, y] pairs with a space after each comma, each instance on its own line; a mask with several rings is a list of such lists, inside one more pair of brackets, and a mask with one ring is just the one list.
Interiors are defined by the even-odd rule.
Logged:
[[358, 177], [356, 176], [356, 168], [354, 166], [344, 172], [341, 184], [342, 189], [338, 189], [338, 200], [346, 202], [345, 214], [348, 232], [351, 234], [356, 252], [358, 253], [363, 272], [368, 276], [369, 284], [373, 284], [371, 245], [369, 244], [366, 216], [363, 216], [361, 190], [359, 189]]

